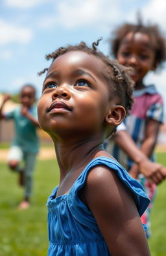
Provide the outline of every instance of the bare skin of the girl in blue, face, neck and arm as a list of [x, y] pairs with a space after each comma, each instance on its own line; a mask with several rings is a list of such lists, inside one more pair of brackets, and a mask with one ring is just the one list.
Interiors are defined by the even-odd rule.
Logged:
[[[60, 167], [56, 197], [69, 192], [91, 160], [112, 158], [102, 143], [123, 120], [125, 109], [116, 98], [110, 100], [104, 68], [95, 56], [71, 51], [54, 60], [47, 72], [38, 119], [53, 139]], [[150, 255], [132, 193], [114, 171], [91, 169], [82, 193], [112, 256]]]

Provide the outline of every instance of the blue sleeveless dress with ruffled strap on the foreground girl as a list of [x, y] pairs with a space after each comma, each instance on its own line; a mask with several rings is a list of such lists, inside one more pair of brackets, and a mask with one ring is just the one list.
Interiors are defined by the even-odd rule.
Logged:
[[110, 256], [93, 214], [79, 197], [79, 191], [86, 182], [88, 171], [95, 165], [106, 165], [117, 172], [118, 177], [136, 195], [140, 216], [150, 203], [141, 184], [130, 177], [118, 162], [106, 157], [93, 159], [84, 168], [69, 193], [56, 197], [58, 190], [56, 187], [47, 201], [48, 256]]

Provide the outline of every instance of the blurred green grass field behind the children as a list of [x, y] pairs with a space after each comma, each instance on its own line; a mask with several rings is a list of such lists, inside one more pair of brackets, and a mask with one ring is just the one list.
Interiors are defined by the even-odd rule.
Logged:
[[[166, 166], [165, 154], [158, 154], [158, 162]], [[34, 175], [34, 196], [28, 210], [18, 210], [23, 191], [17, 186], [17, 175], [0, 163], [0, 256], [47, 255], [47, 208], [45, 203], [51, 190], [58, 184], [58, 165], [55, 160], [38, 161]], [[165, 185], [158, 187], [152, 210], [152, 256], [166, 255]], [[104, 256], [104, 255], [103, 255]]]

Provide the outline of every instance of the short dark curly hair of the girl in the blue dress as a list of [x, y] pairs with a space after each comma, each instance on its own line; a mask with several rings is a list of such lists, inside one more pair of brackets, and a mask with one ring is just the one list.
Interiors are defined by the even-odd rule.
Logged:
[[[88, 47], [85, 42], [80, 42], [80, 44], [77, 45], [60, 47], [58, 48], [58, 50], [53, 51], [53, 53], [46, 55], [45, 59], [52, 59], [54, 61], [56, 58], [64, 55], [65, 53], [68, 53], [69, 51], [83, 51], [90, 55], [94, 55], [95, 57], [100, 59], [106, 65], [106, 68], [104, 69], [104, 71], [102, 71], [102, 74], [108, 82], [108, 85], [110, 85], [110, 96], [112, 98], [115, 96], [119, 98], [119, 104], [125, 107], [126, 115], [128, 115], [128, 112], [132, 108], [132, 91], [134, 87], [134, 84], [130, 79], [130, 75], [128, 74], [130, 68], [126, 68], [120, 65], [119, 63], [117, 63], [117, 61], [109, 59], [109, 57], [104, 55], [101, 51], [97, 51], [96, 46], [99, 45], [100, 40], [102, 40], [102, 38], [97, 40], [97, 42], [93, 42], [91, 48]], [[38, 75], [40, 76], [48, 69], [49, 68], [44, 68], [41, 72], [38, 72]]]

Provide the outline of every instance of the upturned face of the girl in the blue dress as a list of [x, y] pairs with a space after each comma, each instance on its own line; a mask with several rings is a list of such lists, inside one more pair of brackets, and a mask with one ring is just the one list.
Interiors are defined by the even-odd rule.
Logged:
[[38, 103], [38, 120], [49, 134], [82, 135], [101, 130], [110, 107], [100, 59], [70, 51], [51, 64]]

